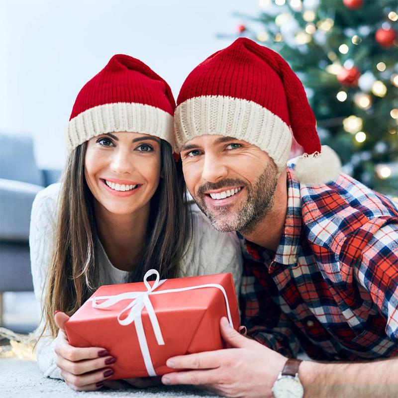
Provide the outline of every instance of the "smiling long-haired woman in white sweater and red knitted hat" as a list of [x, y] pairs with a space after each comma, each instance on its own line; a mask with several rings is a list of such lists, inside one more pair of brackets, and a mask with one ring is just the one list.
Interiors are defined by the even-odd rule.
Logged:
[[62, 182], [33, 203], [31, 265], [43, 308], [36, 356], [45, 376], [73, 389], [99, 389], [117, 361], [102, 347], [70, 346], [62, 330], [100, 285], [142, 281], [155, 268], [161, 278], [232, 272], [239, 286], [236, 236], [185, 204], [174, 108], [148, 66], [113, 56], [76, 99]]

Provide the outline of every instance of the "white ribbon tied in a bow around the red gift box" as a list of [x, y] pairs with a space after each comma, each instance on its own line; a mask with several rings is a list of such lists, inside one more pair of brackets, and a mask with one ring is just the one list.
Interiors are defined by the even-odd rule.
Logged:
[[[149, 283], [147, 281], [147, 279], [151, 275], [156, 275], [156, 280], [155, 280], [154, 284], [152, 285], [152, 287], [151, 287], [151, 285], [149, 285]], [[168, 290], [163, 290], [161, 292], [155, 292], [155, 290], [159, 286], [161, 286], [163, 283], [165, 283], [166, 281], [167, 281], [167, 279], [163, 279], [160, 281], [160, 276], [159, 276], [158, 271], [149, 270], [144, 275], [144, 284], [145, 284], [145, 287], [147, 288], [146, 292], [127, 292], [127, 293], [121, 293], [119, 295], [114, 295], [114, 296], [99, 296], [99, 297], [94, 296], [91, 298], [91, 301], [93, 301], [93, 303], [92, 303], [93, 308], [99, 308], [99, 309], [108, 308], [121, 300], [132, 299], [132, 301], [119, 312], [119, 314], [117, 315], [117, 321], [119, 322], [120, 325], [123, 325], [123, 326], [129, 325], [134, 322], [135, 330], [137, 332], [137, 337], [138, 337], [138, 343], [139, 343], [142, 357], [144, 359], [145, 367], [146, 367], [146, 370], [147, 370], [149, 376], [157, 376], [157, 375], [156, 375], [155, 369], [152, 364], [151, 355], [149, 354], [148, 343], [147, 343], [147, 340], [145, 337], [144, 327], [142, 325], [141, 312], [144, 307], [148, 312], [149, 319], [151, 321], [152, 328], [155, 333], [155, 337], [156, 337], [156, 341], [157, 341], [158, 345], [165, 345], [165, 342], [164, 342], [163, 336], [162, 336], [162, 332], [160, 330], [158, 318], [156, 317], [155, 310], [153, 309], [151, 300], [149, 298], [150, 295], [161, 295], [164, 293], [185, 292], [188, 290], [201, 289], [201, 288], [219, 289], [222, 292], [222, 294], [224, 295], [229, 324], [231, 325], [231, 327], [233, 327], [227, 294], [225, 292], [225, 289], [221, 285], [205, 284], [205, 285], [192, 286], [192, 287], [188, 287], [188, 288], [168, 289]], [[98, 300], [105, 300], [105, 301], [98, 304], [97, 303]], [[130, 309], [130, 312], [128, 313], [127, 317], [124, 319], [120, 319], [120, 316], [128, 309]]]

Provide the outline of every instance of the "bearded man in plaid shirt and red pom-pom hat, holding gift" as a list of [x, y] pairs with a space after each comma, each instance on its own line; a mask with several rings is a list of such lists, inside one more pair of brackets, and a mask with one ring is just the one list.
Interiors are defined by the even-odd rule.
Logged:
[[[169, 359], [165, 384], [229, 397], [398, 396], [398, 209], [340, 173], [303, 87], [240, 38], [191, 72], [175, 113], [188, 189], [240, 233], [242, 323], [233, 347]], [[304, 155], [286, 167], [291, 133]], [[298, 361], [298, 350], [314, 361]], [[188, 369], [188, 370], [187, 370]]]

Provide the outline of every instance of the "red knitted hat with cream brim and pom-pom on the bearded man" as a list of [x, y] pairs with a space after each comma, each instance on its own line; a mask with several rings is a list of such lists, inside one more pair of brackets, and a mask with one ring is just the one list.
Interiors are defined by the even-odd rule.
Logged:
[[304, 88], [276, 52], [247, 38], [217, 51], [185, 80], [175, 112], [176, 152], [192, 138], [215, 134], [257, 145], [286, 168], [292, 136], [303, 147], [295, 174], [303, 184], [334, 180], [337, 155], [320, 145]]

